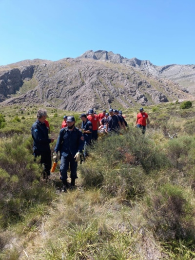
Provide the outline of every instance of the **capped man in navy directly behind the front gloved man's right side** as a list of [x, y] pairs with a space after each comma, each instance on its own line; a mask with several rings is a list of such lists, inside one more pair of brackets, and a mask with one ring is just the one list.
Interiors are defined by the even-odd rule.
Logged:
[[87, 145], [90, 145], [91, 140], [92, 140], [93, 126], [92, 126], [92, 122], [90, 122], [87, 119], [86, 114], [82, 114], [80, 116], [80, 119], [82, 120], [81, 131], [82, 131], [82, 134], [83, 134], [83, 137], [84, 137], [84, 142], [85, 142], [85, 144], [84, 144], [84, 157], [86, 157], [86, 156], [88, 156]]

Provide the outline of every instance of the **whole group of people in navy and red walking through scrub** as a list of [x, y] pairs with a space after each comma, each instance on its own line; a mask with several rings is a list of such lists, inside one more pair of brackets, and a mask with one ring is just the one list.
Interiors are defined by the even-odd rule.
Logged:
[[[143, 108], [139, 109], [137, 114], [136, 126], [142, 129], [145, 133], [146, 120], [149, 124], [147, 113]], [[54, 139], [49, 139], [49, 127], [46, 125], [47, 111], [39, 109], [37, 120], [32, 125], [31, 134], [33, 142], [33, 154], [36, 157], [40, 156], [40, 163], [43, 164], [43, 178], [48, 179], [52, 166], [50, 143]], [[119, 133], [120, 129], [126, 129], [128, 124], [122, 116], [122, 111], [117, 109], [109, 109], [109, 114], [106, 110], [96, 114], [93, 109], [80, 115], [82, 120], [81, 128], [75, 126], [75, 118], [73, 116], [64, 116], [59, 137], [54, 149], [53, 159], [58, 160], [58, 152], [60, 153], [60, 180], [63, 183], [63, 191], [68, 188], [75, 187], [77, 177], [78, 160], [84, 149], [84, 157], [88, 156], [87, 146], [92, 144], [92, 140], [98, 139], [98, 133]], [[67, 181], [67, 170], [70, 166], [71, 183]]]

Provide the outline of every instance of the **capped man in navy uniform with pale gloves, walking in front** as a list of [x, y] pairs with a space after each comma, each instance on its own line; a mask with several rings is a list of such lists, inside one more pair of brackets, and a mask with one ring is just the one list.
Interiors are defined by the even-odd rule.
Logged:
[[63, 183], [63, 190], [66, 191], [69, 188], [69, 183], [67, 181], [67, 170], [70, 165], [70, 178], [71, 187], [75, 187], [75, 180], [77, 177], [77, 166], [78, 160], [84, 146], [84, 138], [82, 132], [75, 126], [75, 118], [73, 116], [68, 116], [67, 127], [64, 127], [59, 132], [59, 138], [54, 149], [54, 157], [56, 160], [58, 152], [61, 155], [60, 162], [60, 180]]

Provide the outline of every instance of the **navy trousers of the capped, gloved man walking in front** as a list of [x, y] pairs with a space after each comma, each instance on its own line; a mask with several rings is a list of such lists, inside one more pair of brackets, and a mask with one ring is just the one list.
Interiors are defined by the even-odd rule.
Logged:
[[67, 157], [61, 156], [61, 162], [60, 162], [60, 174], [61, 174], [61, 180], [65, 181], [68, 178], [67, 170], [70, 165], [70, 178], [75, 180], [77, 179], [77, 165], [78, 162], [75, 161], [75, 158], [70, 153]]

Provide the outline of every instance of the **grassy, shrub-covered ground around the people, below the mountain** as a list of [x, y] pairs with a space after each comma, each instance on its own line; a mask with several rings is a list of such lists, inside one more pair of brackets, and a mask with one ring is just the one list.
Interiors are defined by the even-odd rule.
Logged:
[[[39, 106], [0, 107], [0, 259], [195, 259], [195, 103], [182, 107], [145, 106], [145, 135], [138, 109], [123, 110], [129, 131], [99, 138], [67, 193], [59, 164], [45, 183], [32, 155]], [[64, 115], [81, 124], [47, 111], [56, 140]]]

